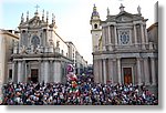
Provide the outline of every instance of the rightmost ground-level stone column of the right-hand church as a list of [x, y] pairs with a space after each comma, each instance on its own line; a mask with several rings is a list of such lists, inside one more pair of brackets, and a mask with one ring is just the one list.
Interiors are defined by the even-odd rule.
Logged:
[[152, 85], [156, 85], [156, 69], [155, 69], [155, 58], [151, 58], [151, 70], [152, 70]]

